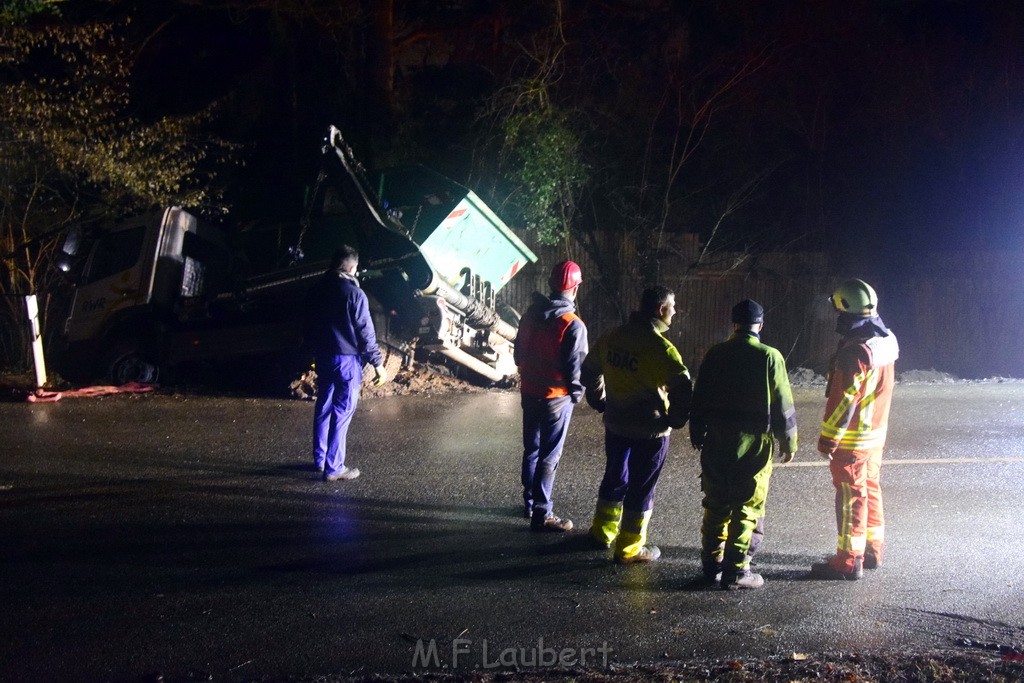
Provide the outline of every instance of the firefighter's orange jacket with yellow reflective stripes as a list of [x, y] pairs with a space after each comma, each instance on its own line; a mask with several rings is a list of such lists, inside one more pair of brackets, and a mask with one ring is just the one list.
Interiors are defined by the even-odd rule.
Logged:
[[885, 445], [899, 344], [891, 332], [847, 339], [833, 358], [818, 451], [866, 451]]

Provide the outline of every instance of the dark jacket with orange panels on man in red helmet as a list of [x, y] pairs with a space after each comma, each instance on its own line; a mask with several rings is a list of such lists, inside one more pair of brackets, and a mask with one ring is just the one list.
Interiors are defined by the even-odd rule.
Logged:
[[535, 292], [519, 321], [513, 357], [519, 367], [520, 391], [535, 398], [583, 398], [580, 369], [587, 357], [587, 326], [568, 299]]

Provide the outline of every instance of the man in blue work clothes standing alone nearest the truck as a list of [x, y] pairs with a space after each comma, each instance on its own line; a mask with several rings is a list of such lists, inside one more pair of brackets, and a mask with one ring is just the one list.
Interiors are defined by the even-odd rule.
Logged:
[[367, 295], [355, 279], [359, 254], [343, 245], [309, 292], [306, 344], [316, 362], [313, 463], [325, 481], [354, 479], [345, 465], [345, 438], [359, 400], [362, 366], [374, 367], [374, 385], [387, 381]]

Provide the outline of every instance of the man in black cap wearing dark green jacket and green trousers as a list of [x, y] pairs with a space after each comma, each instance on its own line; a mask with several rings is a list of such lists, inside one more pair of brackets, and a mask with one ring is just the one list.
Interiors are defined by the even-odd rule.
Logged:
[[774, 438], [781, 461], [797, 452], [797, 412], [782, 354], [761, 343], [764, 308], [732, 308], [733, 333], [711, 347], [697, 372], [690, 441], [700, 451], [705, 578], [724, 590], [761, 588], [750, 569], [763, 535]]

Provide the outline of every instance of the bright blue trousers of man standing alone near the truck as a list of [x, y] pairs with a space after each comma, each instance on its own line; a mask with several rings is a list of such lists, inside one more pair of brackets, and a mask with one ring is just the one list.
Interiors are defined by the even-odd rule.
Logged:
[[345, 467], [348, 425], [359, 402], [362, 360], [357, 355], [317, 355], [313, 409], [313, 462], [325, 474]]

